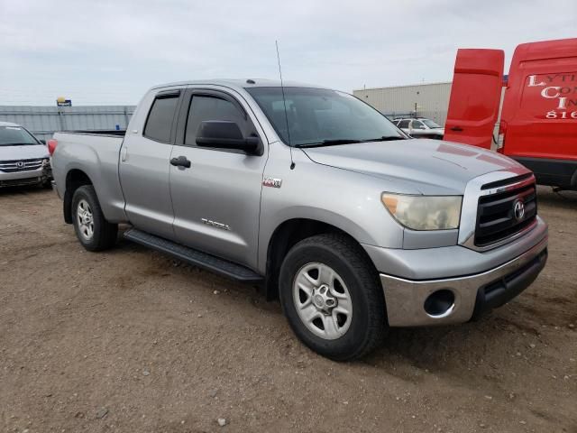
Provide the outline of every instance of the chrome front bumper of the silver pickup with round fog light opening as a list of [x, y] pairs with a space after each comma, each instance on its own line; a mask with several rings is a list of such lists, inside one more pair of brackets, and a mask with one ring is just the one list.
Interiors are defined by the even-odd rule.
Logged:
[[[545, 267], [547, 239], [545, 235], [517, 258], [472, 275], [415, 281], [381, 273], [389, 325], [418, 327], [463, 323], [503, 305], [527, 289]], [[431, 315], [426, 312], [425, 302], [437, 290], [450, 290], [454, 296], [453, 305], [442, 314]]]

